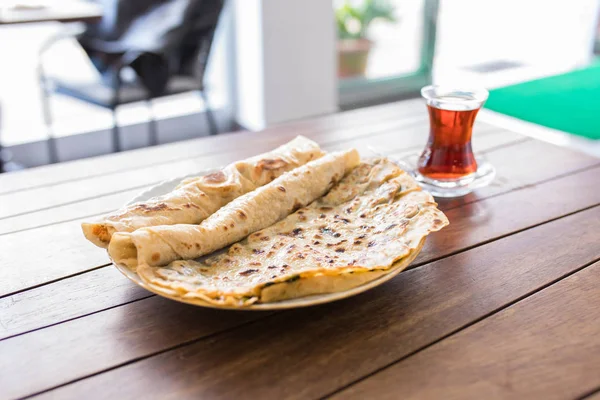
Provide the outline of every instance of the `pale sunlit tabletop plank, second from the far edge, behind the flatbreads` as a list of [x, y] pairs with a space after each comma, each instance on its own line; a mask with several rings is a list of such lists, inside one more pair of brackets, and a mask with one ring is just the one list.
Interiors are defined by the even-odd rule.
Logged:
[[[387, 134], [390, 130], [397, 130], [399, 146], [407, 148], [417, 144], [421, 145], [426, 140], [425, 134], [415, 134], [423, 131], [423, 121], [424, 119], [417, 122], [416, 125], [414, 121], [384, 123], [379, 125], [382, 127], [381, 130], [378, 130], [377, 127], [358, 126], [354, 129], [341, 131], [322, 131], [309, 136], [318, 139], [318, 142], [323, 146], [363, 137], [365, 140], [362, 141], [362, 144], [366, 147], [368, 139], [372, 140], [377, 134]], [[409, 129], [409, 127], [413, 127], [413, 129]], [[416, 128], [416, 131], [414, 128]], [[249, 135], [246, 135], [238, 138], [236, 147], [230, 147], [233, 150], [219, 154], [187, 158], [166, 164], [120, 171], [114, 174], [103, 174], [85, 180], [69, 181], [57, 185], [7, 193], [0, 195], [0, 219], [132, 188], [143, 188], [173, 177], [223, 166], [242, 158], [272, 150], [295, 136], [294, 133], [287, 136], [278, 134], [257, 141], [250, 140]]]

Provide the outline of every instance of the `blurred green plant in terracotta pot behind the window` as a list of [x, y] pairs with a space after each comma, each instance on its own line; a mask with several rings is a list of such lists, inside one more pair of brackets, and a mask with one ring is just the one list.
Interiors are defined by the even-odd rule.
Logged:
[[343, 0], [335, 10], [338, 30], [338, 76], [363, 76], [373, 42], [367, 38], [377, 19], [396, 22], [395, 8], [388, 0]]

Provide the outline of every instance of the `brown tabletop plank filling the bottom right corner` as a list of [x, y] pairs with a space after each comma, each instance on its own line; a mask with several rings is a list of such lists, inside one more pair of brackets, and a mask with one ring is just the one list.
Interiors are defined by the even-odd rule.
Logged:
[[577, 398], [600, 384], [599, 303], [596, 263], [336, 397]]

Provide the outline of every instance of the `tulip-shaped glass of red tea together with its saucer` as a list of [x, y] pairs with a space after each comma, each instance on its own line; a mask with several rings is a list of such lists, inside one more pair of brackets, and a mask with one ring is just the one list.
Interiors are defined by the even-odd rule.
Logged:
[[426, 86], [421, 94], [429, 111], [429, 140], [418, 159], [406, 160], [419, 184], [437, 197], [464, 196], [488, 185], [496, 172], [471, 147], [473, 123], [487, 90]]

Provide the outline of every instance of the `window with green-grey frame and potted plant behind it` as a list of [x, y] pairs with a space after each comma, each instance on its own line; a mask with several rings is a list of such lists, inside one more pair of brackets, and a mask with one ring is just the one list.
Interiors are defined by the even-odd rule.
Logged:
[[437, 0], [335, 0], [340, 106], [405, 97], [431, 81]]

